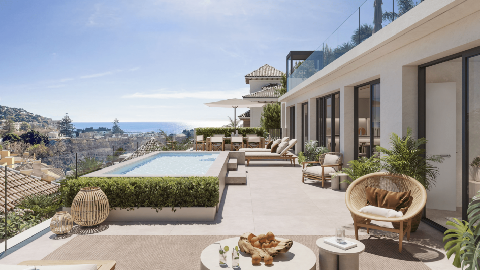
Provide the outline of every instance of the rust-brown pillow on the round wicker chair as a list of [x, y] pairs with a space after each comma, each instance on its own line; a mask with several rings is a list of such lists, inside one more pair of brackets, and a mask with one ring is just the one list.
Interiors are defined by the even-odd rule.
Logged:
[[405, 192], [392, 192], [375, 187], [365, 187], [365, 194], [367, 196], [366, 205], [401, 211], [405, 215], [413, 201], [410, 193], [410, 190]]

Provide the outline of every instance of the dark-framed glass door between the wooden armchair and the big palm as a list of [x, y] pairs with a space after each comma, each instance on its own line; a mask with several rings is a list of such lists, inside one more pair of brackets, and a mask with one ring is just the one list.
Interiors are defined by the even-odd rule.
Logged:
[[354, 158], [369, 158], [380, 145], [380, 80], [355, 87], [354, 118]]

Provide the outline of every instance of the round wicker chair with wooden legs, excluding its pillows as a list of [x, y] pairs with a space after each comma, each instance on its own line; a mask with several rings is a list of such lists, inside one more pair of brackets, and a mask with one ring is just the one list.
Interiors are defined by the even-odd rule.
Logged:
[[[386, 218], [377, 215], [360, 213], [358, 210], [364, 207], [367, 203], [365, 194], [365, 187], [375, 187], [392, 192], [404, 192], [411, 190], [411, 196], [413, 201], [408, 208], [407, 213], [400, 218]], [[345, 204], [350, 210], [355, 225], [355, 238], [358, 240], [358, 229], [364, 227], [367, 229], [367, 233], [370, 233], [370, 229], [385, 230], [390, 232], [399, 233], [398, 252], [402, 252], [402, 240], [407, 234], [407, 241], [410, 241], [410, 229], [412, 218], [421, 213], [425, 204], [427, 203], [427, 191], [419, 181], [406, 176], [392, 173], [372, 173], [364, 175], [350, 184], [345, 193]], [[371, 225], [372, 220], [386, 221], [386, 222], [399, 222], [399, 229], [391, 229]], [[406, 226], [404, 226], [406, 222]]]

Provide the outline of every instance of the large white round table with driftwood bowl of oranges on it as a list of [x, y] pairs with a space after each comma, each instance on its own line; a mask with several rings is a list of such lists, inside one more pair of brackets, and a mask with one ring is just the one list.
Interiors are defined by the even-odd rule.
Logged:
[[[225, 247], [225, 245], [229, 246], [229, 251], [227, 252], [227, 266], [221, 267], [218, 264], [219, 261], [219, 253], [218, 249], [220, 245], [218, 244], [211, 244], [210, 246], [206, 247], [202, 254], [200, 255], [200, 269], [201, 270], [211, 270], [211, 269], [224, 269], [229, 268], [232, 269], [232, 249], [235, 246], [238, 246], [238, 240], [240, 237], [229, 238], [225, 240], [221, 240], [215, 243], [220, 243], [221, 247]], [[281, 238], [277, 238], [281, 239]], [[263, 261], [260, 264], [253, 265], [251, 263], [251, 256], [250, 254], [240, 252], [240, 268], [241, 270], [248, 270], [248, 269], [259, 269], [259, 266], [263, 267], [274, 267], [275, 269], [284, 269], [284, 270], [316, 270], [316, 257], [313, 251], [304, 245], [297, 243], [294, 241], [290, 250], [286, 253], [278, 253], [277, 256], [273, 258], [272, 265], [264, 265]]]

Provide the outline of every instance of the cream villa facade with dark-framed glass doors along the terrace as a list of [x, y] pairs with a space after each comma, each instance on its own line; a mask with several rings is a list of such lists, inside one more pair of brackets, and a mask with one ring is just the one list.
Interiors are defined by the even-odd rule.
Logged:
[[468, 166], [480, 155], [478, 25], [478, 0], [426, 0], [328, 65], [321, 45], [303, 64], [316, 72], [288, 72], [279, 98], [283, 133], [299, 140], [296, 153], [317, 140], [347, 164], [411, 128], [428, 140], [427, 155], [444, 158], [423, 220], [440, 230], [447, 219], [466, 220], [480, 188]]

